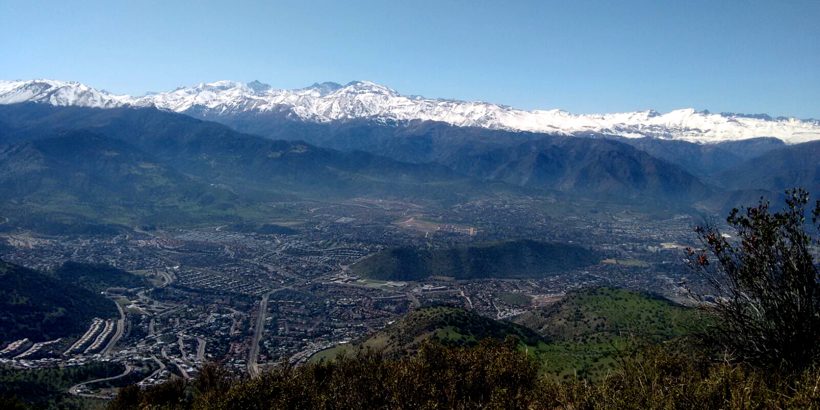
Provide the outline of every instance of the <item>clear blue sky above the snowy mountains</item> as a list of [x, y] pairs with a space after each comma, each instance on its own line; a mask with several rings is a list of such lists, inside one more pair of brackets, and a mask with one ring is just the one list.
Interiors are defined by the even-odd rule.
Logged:
[[820, 118], [820, 2], [0, 0], [0, 79], [371, 80], [570, 112]]

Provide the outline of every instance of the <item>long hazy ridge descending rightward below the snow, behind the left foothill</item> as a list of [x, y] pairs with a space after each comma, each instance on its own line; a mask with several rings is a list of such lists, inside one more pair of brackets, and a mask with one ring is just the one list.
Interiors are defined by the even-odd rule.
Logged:
[[294, 195], [322, 200], [367, 195], [462, 202], [499, 191], [523, 192], [471, 179], [437, 163], [399, 162], [362, 151], [271, 140], [153, 107], [0, 107], [0, 143], [37, 139], [54, 130], [91, 130], [124, 141], [207, 185], [224, 185], [230, 192], [264, 201]]

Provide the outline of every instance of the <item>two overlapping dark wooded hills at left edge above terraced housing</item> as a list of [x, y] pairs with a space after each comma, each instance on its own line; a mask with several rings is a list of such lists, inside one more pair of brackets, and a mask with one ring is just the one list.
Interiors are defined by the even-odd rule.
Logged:
[[34, 271], [0, 261], [0, 343], [81, 335], [94, 317], [117, 317], [116, 305], [99, 293], [142, 280], [110, 266], [66, 263]]

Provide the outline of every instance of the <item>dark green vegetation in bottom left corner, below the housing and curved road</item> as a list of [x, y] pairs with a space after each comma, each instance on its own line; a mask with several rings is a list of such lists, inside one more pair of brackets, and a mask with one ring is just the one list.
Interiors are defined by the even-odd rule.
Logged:
[[108, 362], [48, 369], [0, 366], [0, 405], [3, 399], [16, 399], [25, 408], [88, 408], [89, 399], [71, 396], [68, 388], [84, 381], [116, 376], [122, 371], [122, 365]]

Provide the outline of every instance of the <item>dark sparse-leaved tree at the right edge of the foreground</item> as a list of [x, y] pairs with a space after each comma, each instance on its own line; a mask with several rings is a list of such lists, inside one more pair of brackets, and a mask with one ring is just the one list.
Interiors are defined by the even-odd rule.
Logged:
[[[744, 212], [733, 209], [727, 222], [735, 238], [714, 225], [696, 228], [703, 248], [689, 248], [689, 257], [713, 292], [698, 296], [714, 317], [700, 335], [733, 360], [796, 371], [820, 358], [820, 275], [813, 254], [820, 243], [807, 230], [809, 194], [792, 189], [786, 197], [781, 212], [770, 212], [763, 198]], [[820, 201], [815, 226], [818, 216]]]

